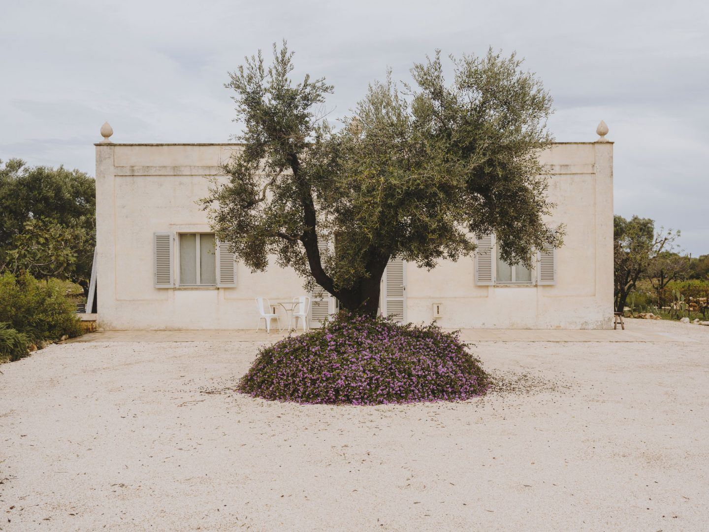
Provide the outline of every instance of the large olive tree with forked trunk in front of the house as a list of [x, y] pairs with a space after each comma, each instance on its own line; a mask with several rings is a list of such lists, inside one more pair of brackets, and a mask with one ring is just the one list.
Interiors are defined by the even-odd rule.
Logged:
[[[260, 52], [247, 58], [226, 85], [245, 146], [204, 200], [218, 238], [252, 270], [275, 255], [306, 289], [320, 284], [367, 314], [391, 257], [431, 268], [495, 233], [505, 260], [528, 265], [534, 248], [560, 245], [537, 160], [551, 142], [549, 94], [514, 55], [453, 65], [450, 84], [438, 54], [413, 67], [403, 92], [390, 78], [372, 84], [335, 131], [322, 119], [333, 87], [294, 84], [285, 43], [271, 67]], [[322, 245], [333, 237], [336, 253]]]

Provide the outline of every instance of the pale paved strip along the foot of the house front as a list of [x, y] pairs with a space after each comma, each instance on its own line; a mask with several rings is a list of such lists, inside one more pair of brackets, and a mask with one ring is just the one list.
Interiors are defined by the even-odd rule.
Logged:
[[[643, 320], [627, 320], [625, 331], [569, 329], [463, 329], [468, 342], [696, 342], [676, 331], [663, 331]], [[638, 323], [640, 322], [640, 323]], [[698, 326], [691, 326], [698, 327]], [[709, 328], [707, 328], [709, 332]], [[266, 333], [253, 330], [212, 331], [98, 331], [69, 342], [269, 342], [288, 336], [287, 331]]]

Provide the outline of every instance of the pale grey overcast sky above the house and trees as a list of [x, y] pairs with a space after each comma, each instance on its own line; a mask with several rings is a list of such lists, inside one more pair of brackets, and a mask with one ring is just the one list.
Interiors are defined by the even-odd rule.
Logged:
[[347, 113], [372, 79], [415, 61], [517, 51], [554, 96], [559, 141], [615, 141], [615, 213], [680, 228], [709, 253], [706, 1], [0, 0], [0, 159], [94, 175], [111, 140], [228, 142], [227, 72], [286, 38], [299, 73]]

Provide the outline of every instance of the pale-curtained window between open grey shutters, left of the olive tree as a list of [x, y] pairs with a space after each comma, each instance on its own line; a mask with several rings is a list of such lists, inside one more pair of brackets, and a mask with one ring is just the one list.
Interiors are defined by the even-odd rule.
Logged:
[[214, 233], [179, 234], [180, 286], [216, 286], [215, 249]]

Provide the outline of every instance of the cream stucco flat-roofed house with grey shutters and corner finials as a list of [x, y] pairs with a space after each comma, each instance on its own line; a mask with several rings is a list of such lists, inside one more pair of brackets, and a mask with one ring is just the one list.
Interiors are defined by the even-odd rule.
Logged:
[[[392, 261], [381, 310], [446, 328], [610, 328], [613, 321], [613, 143], [555, 143], [540, 154], [550, 172], [552, 223], [562, 248], [537, 253], [532, 270], [498, 260], [493, 238], [475, 257], [434, 270]], [[96, 144], [97, 324], [104, 329], [255, 328], [255, 297], [272, 304], [305, 295], [292, 270], [250, 272], [215, 242], [196, 201], [206, 176], [235, 144]], [[335, 311], [313, 301], [318, 326]], [[284, 323], [281, 321], [281, 323]]]

